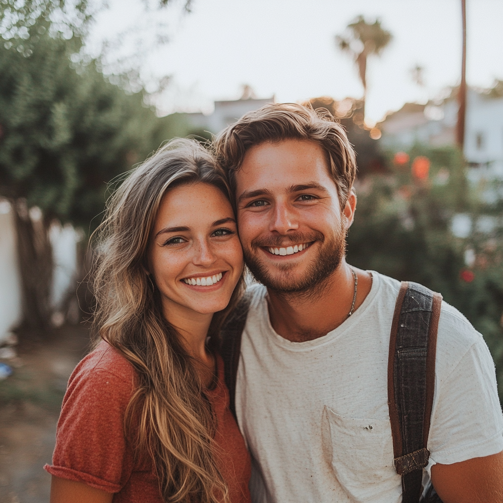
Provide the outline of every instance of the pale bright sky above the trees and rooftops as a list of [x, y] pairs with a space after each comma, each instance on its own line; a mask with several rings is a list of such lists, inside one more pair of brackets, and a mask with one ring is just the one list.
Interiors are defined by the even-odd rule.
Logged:
[[[466, 3], [467, 82], [490, 87], [503, 79], [503, 1]], [[152, 89], [169, 76], [155, 98], [161, 115], [210, 113], [214, 100], [238, 99], [244, 84], [277, 102], [360, 98], [356, 66], [334, 42], [360, 14], [380, 18], [393, 35], [382, 55], [368, 60], [369, 124], [405, 102], [438, 98], [461, 78], [460, 0], [193, 0], [188, 14], [182, 0], [154, 6], [108, 0], [88, 50], [97, 54], [105, 42], [106, 71], [137, 67]], [[424, 68], [425, 86], [412, 79], [416, 65]]]

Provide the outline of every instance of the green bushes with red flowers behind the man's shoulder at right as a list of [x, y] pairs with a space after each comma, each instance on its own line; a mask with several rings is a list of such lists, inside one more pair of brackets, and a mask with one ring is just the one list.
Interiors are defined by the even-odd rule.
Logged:
[[[409, 154], [411, 160], [418, 155], [430, 159], [427, 178], [414, 178], [406, 162], [395, 165], [389, 176], [367, 177], [357, 185], [348, 261], [441, 292], [483, 334], [496, 363], [503, 403], [501, 229], [481, 232], [474, 225], [467, 238], [454, 236], [453, 216], [464, 213], [476, 222], [490, 210], [467, 183], [460, 152], [415, 146]], [[473, 250], [469, 265], [466, 250]]]

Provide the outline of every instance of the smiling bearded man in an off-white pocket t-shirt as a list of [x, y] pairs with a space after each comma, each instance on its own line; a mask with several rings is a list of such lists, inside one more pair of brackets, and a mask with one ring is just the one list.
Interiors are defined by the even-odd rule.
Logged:
[[[401, 500], [387, 360], [396, 280], [345, 260], [356, 209], [344, 129], [267, 105], [217, 138], [250, 271], [235, 407], [255, 503]], [[503, 417], [481, 335], [446, 303], [424, 482], [444, 503], [503, 501]]]

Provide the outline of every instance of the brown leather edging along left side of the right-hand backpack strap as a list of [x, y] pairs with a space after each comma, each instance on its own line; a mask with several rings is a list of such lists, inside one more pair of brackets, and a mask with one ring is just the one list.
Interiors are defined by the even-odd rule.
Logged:
[[391, 422], [391, 434], [393, 436], [393, 453], [394, 457], [398, 458], [402, 455], [402, 435], [400, 432], [400, 423], [398, 420], [398, 411], [395, 402], [394, 390], [394, 359], [396, 349], [396, 333], [398, 332], [398, 320], [400, 318], [400, 311], [402, 309], [403, 298], [408, 288], [408, 283], [402, 281], [400, 291], [395, 304], [395, 312], [393, 313], [393, 322], [391, 323], [391, 335], [389, 340], [389, 356], [388, 356], [388, 408], [389, 420]]

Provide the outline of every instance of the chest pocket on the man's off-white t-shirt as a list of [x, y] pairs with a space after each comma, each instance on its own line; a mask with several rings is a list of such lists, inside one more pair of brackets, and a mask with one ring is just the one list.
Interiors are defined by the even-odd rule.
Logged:
[[390, 501], [390, 494], [400, 496], [389, 420], [343, 417], [325, 406], [323, 425], [327, 460], [354, 501], [380, 501], [384, 494]]

